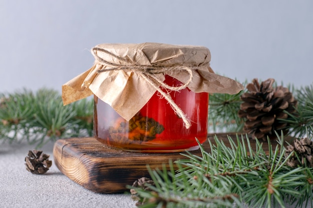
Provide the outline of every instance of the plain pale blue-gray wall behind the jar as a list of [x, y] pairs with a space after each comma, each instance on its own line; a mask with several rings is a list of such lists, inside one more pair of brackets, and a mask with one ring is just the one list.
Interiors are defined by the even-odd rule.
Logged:
[[61, 85], [99, 43], [210, 49], [239, 81], [312, 83], [312, 0], [0, 0], [0, 92]]

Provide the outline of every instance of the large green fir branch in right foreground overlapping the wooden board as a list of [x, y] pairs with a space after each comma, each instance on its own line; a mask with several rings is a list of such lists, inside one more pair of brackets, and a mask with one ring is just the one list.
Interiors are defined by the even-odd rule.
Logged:
[[[268, 139], [269, 152], [266, 153], [262, 148], [264, 143], [257, 139], [256, 146], [252, 148], [247, 135], [245, 138], [237, 136], [236, 140], [228, 137], [230, 147], [215, 137], [209, 141], [210, 152], [200, 147], [202, 157], [183, 154], [186, 158], [175, 162], [176, 172], [171, 163], [170, 172], [150, 170], [155, 186], [150, 186], [153, 193], [138, 188], [137, 199], [142, 202], [140, 208], [214, 207], [215, 204], [209, 204], [211, 201], [199, 204], [195, 199], [225, 200], [226, 196], [232, 198], [223, 202], [225, 207], [235, 203], [238, 207], [247, 204], [270, 208], [273, 204], [284, 208], [285, 203], [296, 207], [310, 203], [312, 170], [288, 167], [286, 161], [291, 155], [285, 156], [283, 135], [277, 134], [277, 138], [275, 148]], [[184, 200], [188, 203], [182, 202]]]

